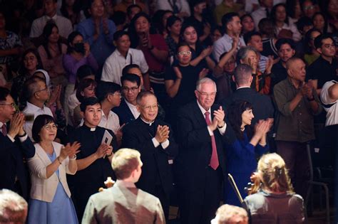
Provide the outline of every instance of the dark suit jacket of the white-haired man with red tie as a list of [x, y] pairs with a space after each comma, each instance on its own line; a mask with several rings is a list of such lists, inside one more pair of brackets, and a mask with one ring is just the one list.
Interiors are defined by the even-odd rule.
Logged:
[[[212, 105], [212, 118], [212, 112], [218, 108], [218, 105]], [[222, 136], [218, 129], [214, 131], [214, 135], [220, 168], [223, 176], [225, 176], [225, 151], [222, 146], [225, 135]], [[196, 101], [190, 102], [178, 111], [177, 136], [180, 144], [180, 154], [175, 164], [178, 169], [180, 183], [184, 184], [184, 188], [198, 188], [200, 183], [205, 182], [206, 168], [210, 164], [212, 146], [208, 125]]]

